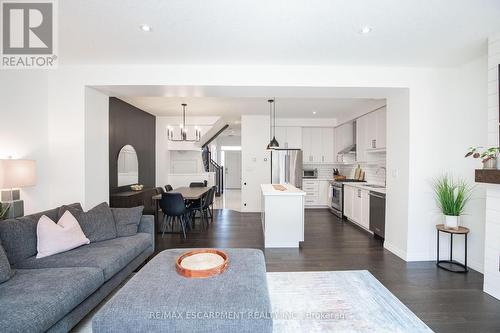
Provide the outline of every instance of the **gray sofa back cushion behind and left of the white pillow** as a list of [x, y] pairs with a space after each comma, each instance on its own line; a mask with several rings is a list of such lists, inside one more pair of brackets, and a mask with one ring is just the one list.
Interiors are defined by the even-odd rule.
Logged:
[[[80, 207], [80, 209], [82, 207], [79, 203], [69, 206]], [[54, 208], [16, 219], [0, 221], [0, 240], [11, 265], [36, 254], [36, 225], [38, 220], [42, 215], [56, 220], [58, 211], [59, 208]]]

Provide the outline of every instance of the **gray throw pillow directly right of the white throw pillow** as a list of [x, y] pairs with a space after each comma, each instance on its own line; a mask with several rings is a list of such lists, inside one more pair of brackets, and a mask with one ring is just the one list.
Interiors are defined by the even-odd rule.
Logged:
[[66, 210], [73, 214], [91, 243], [116, 238], [115, 219], [106, 202], [95, 206], [88, 212], [70, 206], [62, 206], [60, 214], [64, 214]]

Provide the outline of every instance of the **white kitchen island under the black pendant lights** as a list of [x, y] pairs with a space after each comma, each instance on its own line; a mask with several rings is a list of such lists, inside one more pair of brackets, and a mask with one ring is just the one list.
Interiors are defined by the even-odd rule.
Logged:
[[306, 192], [289, 184], [262, 184], [261, 191], [265, 247], [299, 247], [304, 241]]

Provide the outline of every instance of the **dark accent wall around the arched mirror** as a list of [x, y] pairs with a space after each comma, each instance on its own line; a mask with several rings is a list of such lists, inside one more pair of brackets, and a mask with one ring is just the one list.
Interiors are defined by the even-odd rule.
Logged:
[[118, 154], [132, 145], [139, 160], [139, 184], [153, 188], [155, 180], [156, 118], [124, 101], [109, 99], [109, 193], [130, 190], [118, 187]]

